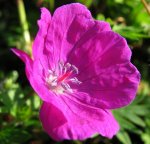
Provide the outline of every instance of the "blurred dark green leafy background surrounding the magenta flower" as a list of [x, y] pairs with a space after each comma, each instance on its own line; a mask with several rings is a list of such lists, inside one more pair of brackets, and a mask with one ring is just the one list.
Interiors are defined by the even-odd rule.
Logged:
[[[10, 51], [31, 52], [40, 7], [53, 13], [72, 2], [86, 5], [95, 19], [109, 22], [127, 39], [141, 72], [135, 101], [113, 111], [121, 129], [111, 140], [99, 135], [82, 142], [51, 140], [39, 121], [41, 101], [24, 64]], [[0, 0], [0, 144], [150, 144], [150, 0]]]

